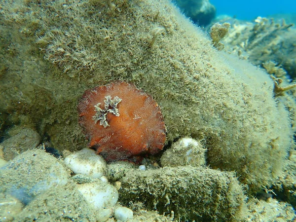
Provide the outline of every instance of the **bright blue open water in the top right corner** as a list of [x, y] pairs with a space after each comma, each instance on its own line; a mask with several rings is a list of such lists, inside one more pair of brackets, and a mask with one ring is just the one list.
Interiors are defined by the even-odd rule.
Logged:
[[296, 14], [296, 0], [210, 0], [217, 9], [217, 16], [236, 16], [240, 20], [254, 20], [258, 16]]

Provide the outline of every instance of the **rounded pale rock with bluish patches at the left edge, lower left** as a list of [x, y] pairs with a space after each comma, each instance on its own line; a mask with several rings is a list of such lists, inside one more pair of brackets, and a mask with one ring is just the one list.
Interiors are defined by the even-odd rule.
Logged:
[[24, 204], [52, 187], [66, 185], [66, 168], [44, 150], [26, 151], [0, 168], [0, 192]]

